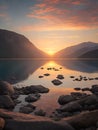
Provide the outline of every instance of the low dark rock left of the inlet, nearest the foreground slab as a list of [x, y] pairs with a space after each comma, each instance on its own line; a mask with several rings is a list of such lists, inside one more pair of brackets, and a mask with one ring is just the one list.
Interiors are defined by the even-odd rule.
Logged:
[[35, 110], [35, 108], [36, 107], [33, 106], [32, 104], [27, 104], [27, 105], [25, 105], [23, 107], [20, 107], [19, 112], [29, 114], [29, 113], [33, 112]]

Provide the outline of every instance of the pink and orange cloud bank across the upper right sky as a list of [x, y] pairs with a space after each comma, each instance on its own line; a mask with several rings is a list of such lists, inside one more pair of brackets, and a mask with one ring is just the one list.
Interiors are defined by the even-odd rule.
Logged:
[[28, 31], [98, 28], [98, 1], [43, 0], [30, 7], [27, 17], [37, 21], [23, 27]]

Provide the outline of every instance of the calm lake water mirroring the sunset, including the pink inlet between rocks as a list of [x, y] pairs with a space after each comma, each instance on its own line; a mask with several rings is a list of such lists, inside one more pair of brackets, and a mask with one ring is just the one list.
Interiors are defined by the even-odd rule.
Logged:
[[[43, 67], [43, 69], [41, 69]], [[47, 70], [47, 68], [56, 68]], [[50, 76], [43, 76], [49, 73]], [[62, 74], [63, 84], [55, 86], [52, 80], [56, 79], [58, 74]], [[27, 85], [43, 85], [50, 89], [49, 93], [42, 94], [41, 99], [33, 103], [38, 109], [44, 109], [49, 114], [59, 107], [57, 99], [62, 94], [69, 94], [74, 91], [74, 87], [91, 87], [98, 84], [98, 80], [73, 81], [70, 76], [79, 76], [87, 78], [98, 77], [98, 60], [1, 60], [0, 61], [0, 79], [8, 81], [17, 87], [25, 87]], [[14, 111], [18, 111], [23, 104], [25, 96], [20, 96], [21, 104], [18, 104]]]

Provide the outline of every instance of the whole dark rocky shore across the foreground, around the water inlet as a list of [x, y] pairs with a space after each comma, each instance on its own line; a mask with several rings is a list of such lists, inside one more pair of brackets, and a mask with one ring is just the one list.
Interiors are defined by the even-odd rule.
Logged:
[[[0, 130], [98, 130], [98, 85], [74, 89], [75, 92], [58, 97], [60, 107], [46, 117], [46, 112], [36, 110], [33, 102], [48, 93], [48, 88], [42, 85], [16, 88], [0, 81]], [[27, 104], [13, 112], [20, 103], [20, 95], [26, 95]]]

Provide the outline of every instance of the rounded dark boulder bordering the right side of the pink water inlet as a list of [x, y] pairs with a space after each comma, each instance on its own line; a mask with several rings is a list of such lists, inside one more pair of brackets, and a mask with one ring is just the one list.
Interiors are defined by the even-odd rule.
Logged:
[[64, 104], [69, 103], [74, 100], [75, 100], [75, 98], [72, 95], [61, 95], [58, 99], [58, 103], [60, 105], [64, 105]]

